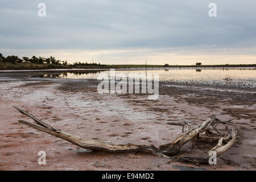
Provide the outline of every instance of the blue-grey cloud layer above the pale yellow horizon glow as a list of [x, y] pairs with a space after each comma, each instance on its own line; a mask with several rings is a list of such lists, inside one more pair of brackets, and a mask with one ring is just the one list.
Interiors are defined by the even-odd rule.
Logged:
[[[47, 17], [39, 18], [44, 2]], [[1, 49], [119, 49], [255, 46], [256, 2], [220, 1], [0, 2]]]

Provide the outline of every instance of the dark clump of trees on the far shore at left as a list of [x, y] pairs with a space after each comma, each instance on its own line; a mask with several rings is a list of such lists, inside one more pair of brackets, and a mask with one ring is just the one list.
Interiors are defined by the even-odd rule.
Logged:
[[76, 62], [73, 64], [68, 64], [67, 60], [65, 61], [61, 61], [61, 60], [57, 60], [55, 59], [55, 57], [49, 57], [49, 58], [44, 58], [44, 57], [36, 57], [36, 56], [32, 56], [30, 57], [22, 57], [22, 59], [20, 59], [18, 56], [7, 56], [4, 57], [2, 55], [2, 53], [0, 53], [0, 63], [34, 63], [34, 64], [55, 64], [55, 65], [98, 65], [100, 66], [100, 63], [81, 63], [81, 62]]

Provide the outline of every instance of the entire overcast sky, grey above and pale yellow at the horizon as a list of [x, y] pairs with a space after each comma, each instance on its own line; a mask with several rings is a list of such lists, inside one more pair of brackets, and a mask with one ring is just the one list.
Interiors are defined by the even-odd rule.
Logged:
[[[209, 17], [209, 3], [217, 17]], [[38, 4], [46, 4], [46, 17]], [[256, 64], [255, 0], [0, 2], [4, 56], [101, 64]]]

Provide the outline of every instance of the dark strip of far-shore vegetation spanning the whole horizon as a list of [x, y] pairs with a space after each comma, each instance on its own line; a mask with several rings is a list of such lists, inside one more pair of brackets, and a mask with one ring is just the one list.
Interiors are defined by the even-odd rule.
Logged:
[[73, 69], [73, 68], [82, 68], [82, 69], [92, 69], [92, 68], [190, 68], [190, 67], [256, 67], [256, 64], [223, 64], [223, 65], [203, 65], [201, 63], [196, 63], [195, 65], [144, 65], [144, 64], [100, 64], [100, 63], [82, 63], [76, 62], [73, 64], [68, 64], [67, 60], [61, 61], [56, 60], [55, 57], [22, 57], [20, 59], [18, 56], [7, 56], [4, 57], [0, 53], [0, 70], [6, 69]]

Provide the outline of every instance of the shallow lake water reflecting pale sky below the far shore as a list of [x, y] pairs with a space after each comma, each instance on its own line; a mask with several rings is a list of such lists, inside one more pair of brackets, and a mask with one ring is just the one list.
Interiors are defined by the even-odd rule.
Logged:
[[[0, 77], [16, 78], [58, 78], [58, 79], [97, 79], [100, 74], [110, 71], [100, 70], [71, 70], [71, 71], [39, 71], [39, 72], [10, 72], [0, 73]], [[213, 85], [237, 88], [256, 88], [255, 69], [155, 69], [155, 70], [115, 70], [115, 77], [118, 79], [120, 73], [125, 76], [138, 73], [150, 78], [155, 74], [159, 75], [159, 81], [170, 82], [171, 84], [192, 84], [192, 85]], [[139, 77], [132, 76], [132, 77]]]

